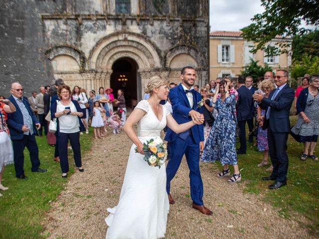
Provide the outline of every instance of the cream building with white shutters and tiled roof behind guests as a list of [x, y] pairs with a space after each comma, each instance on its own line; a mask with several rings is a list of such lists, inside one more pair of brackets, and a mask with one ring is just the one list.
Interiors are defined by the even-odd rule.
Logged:
[[[278, 37], [272, 39], [269, 44], [274, 45], [280, 41], [292, 41]], [[210, 80], [217, 77], [240, 75], [243, 67], [251, 63], [251, 59], [258, 61], [264, 66], [267, 63], [274, 71], [279, 68], [287, 69], [292, 61], [292, 49], [280, 56], [266, 56], [259, 50], [256, 54], [250, 52], [252, 43], [241, 37], [240, 31], [214, 31], [210, 32], [209, 58], [210, 58]]]

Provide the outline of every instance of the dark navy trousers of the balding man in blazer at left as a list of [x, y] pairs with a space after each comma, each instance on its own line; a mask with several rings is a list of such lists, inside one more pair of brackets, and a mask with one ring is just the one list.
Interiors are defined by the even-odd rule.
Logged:
[[26, 147], [29, 150], [30, 160], [32, 168], [31, 170], [37, 170], [40, 166], [39, 160], [39, 149], [36, 144], [35, 136], [23, 134], [22, 139], [13, 139], [13, 159], [14, 159], [14, 169], [15, 176], [20, 177], [24, 174], [24, 148]]

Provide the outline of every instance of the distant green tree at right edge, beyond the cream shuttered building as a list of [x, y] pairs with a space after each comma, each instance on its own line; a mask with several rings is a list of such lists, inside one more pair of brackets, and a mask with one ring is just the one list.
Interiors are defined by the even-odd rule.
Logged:
[[319, 30], [293, 37], [293, 60], [301, 61], [304, 54], [319, 56]]

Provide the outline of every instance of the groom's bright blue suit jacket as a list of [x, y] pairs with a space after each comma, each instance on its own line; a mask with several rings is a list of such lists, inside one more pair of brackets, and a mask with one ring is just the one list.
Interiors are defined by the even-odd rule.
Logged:
[[[196, 91], [193, 91], [192, 94], [193, 94], [194, 105], [193, 105], [193, 108], [191, 109], [181, 84], [169, 90], [168, 97], [173, 110], [172, 116], [178, 124], [186, 123], [192, 120], [191, 117], [188, 115], [188, 113], [191, 110], [195, 110], [199, 113], [202, 113], [202, 109], [201, 109], [202, 107], [197, 108], [197, 103], [201, 101], [200, 94]], [[193, 139], [195, 140], [196, 143], [199, 143], [200, 141], [204, 141], [203, 124], [199, 124], [199, 125], [196, 124], [192, 126], [190, 130], [191, 130]], [[175, 133], [173, 130], [168, 128], [165, 135], [165, 140], [168, 142], [173, 142], [177, 137], [180, 137], [181, 139], [186, 140], [188, 135], [189, 135], [189, 130], [186, 130], [181, 133]]]

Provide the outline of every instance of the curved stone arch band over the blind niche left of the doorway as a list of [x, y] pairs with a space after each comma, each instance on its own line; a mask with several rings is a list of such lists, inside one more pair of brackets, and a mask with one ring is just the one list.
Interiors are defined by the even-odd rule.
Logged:
[[59, 55], [68, 55], [73, 57], [80, 66], [80, 70], [87, 68], [87, 60], [84, 53], [71, 46], [55, 46], [45, 52], [47, 58], [52, 60], [54, 57]]

